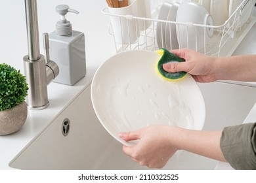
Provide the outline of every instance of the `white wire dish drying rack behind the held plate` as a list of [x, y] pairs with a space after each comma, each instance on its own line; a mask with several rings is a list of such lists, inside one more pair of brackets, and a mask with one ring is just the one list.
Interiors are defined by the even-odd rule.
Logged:
[[[122, 26], [127, 26], [128, 35], [122, 35], [121, 37], [127, 37], [127, 42], [117, 42], [115, 35], [113, 33], [113, 26], [110, 23], [109, 31], [110, 35], [114, 38], [114, 44], [116, 46], [116, 52], [123, 52], [126, 50], [158, 50], [160, 48], [163, 48], [165, 46], [158, 45], [159, 40], [160, 42], [163, 42], [163, 31], [161, 31], [161, 36], [157, 36], [157, 25], [158, 24], [165, 24], [166, 26], [176, 25], [176, 26], [185, 26], [186, 27], [186, 39], [187, 39], [187, 45], [188, 45], [188, 35], [189, 35], [189, 29], [194, 29], [194, 37], [195, 37], [195, 44], [198, 44], [198, 35], [197, 30], [203, 29], [203, 48], [198, 50], [198, 47], [194, 50], [198, 52], [202, 52], [203, 54], [209, 55], [209, 56], [231, 56], [232, 53], [236, 50], [240, 42], [244, 39], [245, 35], [248, 33], [248, 31], [251, 29], [253, 24], [256, 22], [256, 17], [253, 16], [253, 10], [254, 8], [248, 7], [249, 5], [255, 5], [256, 0], [244, 0], [242, 3], [234, 10], [232, 15], [224, 22], [223, 25], [204, 25], [204, 24], [194, 24], [192, 22], [173, 22], [168, 20], [159, 20], [158, 14], [160, 12], [161, 5], [163, 1], [159, 1], [158, 5], [156, 7], [151, 7], [152, 10], [152, 18], [142, 18], [139, 16], [134, 16], [133, 14], [115, 14], [110, 13], [108, 10], [108, 7], [105, 7], [102, 10], [103, 14], [106, 14], [107, 16], [114, 16], [119, 21], [119, 29], [122, 29]], [[151, 4], [152, 5], [152, 4]], [[250, 12], [248, 12], [248, 10]], [[247, 16], [249, 13], [249, 18], [245, 20], [245, 16]], [[125, 23], [123, 21], [125, 20]], [[129, 29], [130, 22], [135, 21], [135, 27], [132, 27], [133, 29], [136, 29], [136, 41], [131, 41]], [[143, 22], [142, 25], [144, 25], [144, 30], [140, 30], [139, 23]], [[147, 26], [150, 25], [150, 26]], [[140, 25], [141, 26], [141, 25]], [[158, 27], [159, 28], [159, 27]], [[207, 38], [207, 29], [213, 30], [213, 35], [209, 38]], [[171, 29], [170, 29], [171, 30]], [[179, 29], [176, 29], [177, 35], [179, 34]], [[171, 32], [169, 33], [171, 35]], [[191, 35], [190, 35], [191, 36]], [[202, 36], [202, 35], [201, 35]], [[170, 36], [171, 37], [171, 36]], [[178, 37], [177, 37], [178, 39]], [[205, 40], [208, 39], [206, 42]], [[202, 41], [202, 38], [200, 39]], [[166, 41], [166, 40], [165, 40]], [[170, 40], [170, 50], [172, 48], [172, 43]], [[179, 47], [180, 48], [180, 47]]]

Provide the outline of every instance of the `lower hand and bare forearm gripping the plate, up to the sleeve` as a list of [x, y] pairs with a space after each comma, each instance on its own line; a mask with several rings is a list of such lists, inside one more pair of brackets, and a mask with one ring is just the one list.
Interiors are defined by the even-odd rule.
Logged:
[[226, 161], [220, 146], [221, 133], [150, 125], [137, 131], [119, 133], [119, 137], [124, 141], [139, 140], [135, 146], [123, 146], [123, 152], [140, 165], [160, 169], [177, 150]]

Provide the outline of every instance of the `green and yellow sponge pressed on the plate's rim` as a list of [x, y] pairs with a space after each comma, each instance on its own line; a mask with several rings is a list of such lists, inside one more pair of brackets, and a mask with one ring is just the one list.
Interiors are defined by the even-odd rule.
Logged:
[[158, 71], [158, 74], [160, 76], [162, 76], [165, 80], [172, 81], [172, 82], [181, 80], [182, 78], [184, 78], [184, 76], [186, 76], [186, 72], [184, 72], [184, 71], [177, 72], [177, 73], [168, 73], [167, 71], [165, 71], [163, 69], [163, 64], [164, 63], [169, 63], [169, 62], [172, 62], [172, 61], [182, 62], [182, 61], [185, 61], [184, 59], [179, 58], [175, 54], [172, 54], [171, 52], [169, 52], [165, 48], [161, 48], [160, 50], [156, 50], [156, 52], [161, 55], [161, 58], [160, 58], [160, 60], [158, 61], [158, 64], [157, 64], [157, 71]]

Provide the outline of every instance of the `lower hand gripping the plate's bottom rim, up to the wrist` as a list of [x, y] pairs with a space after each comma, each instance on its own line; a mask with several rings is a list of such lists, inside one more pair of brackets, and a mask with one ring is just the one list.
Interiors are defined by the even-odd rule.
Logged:
[[178, 150], [173, 146], [169, 129], [171, 126], [151, 125], [138, 131], [119, 133], [124, 141], [139, 142], [135, 146], [123, 146], [123, 152], [140, 165], [162, 168]]

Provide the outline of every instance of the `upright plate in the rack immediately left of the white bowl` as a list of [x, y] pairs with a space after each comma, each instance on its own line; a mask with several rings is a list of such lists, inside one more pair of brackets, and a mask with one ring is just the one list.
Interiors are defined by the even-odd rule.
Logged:
[[[180, 3], [173, 3], [169, 10], [167, 21], [176, 21], [177, 11]], [[165, 25], [165, 48], [167, 50], [173, 50], [179, 48], [179, 42], [177, 40], [176, 24], [166, 24]]]

